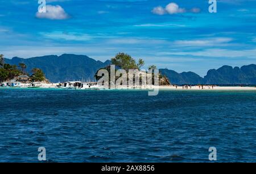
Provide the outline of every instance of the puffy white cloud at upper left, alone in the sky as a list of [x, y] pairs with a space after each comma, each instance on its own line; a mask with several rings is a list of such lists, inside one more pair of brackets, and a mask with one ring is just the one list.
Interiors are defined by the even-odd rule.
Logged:
[[69, 15], [65, 12], [65, 10], [59, 6], [46, 6], [46, 13], [36, 13], [36, 18], [44, 18], [44, 19], [52, 19], [52, 20], [63, 20], [68, 19]]

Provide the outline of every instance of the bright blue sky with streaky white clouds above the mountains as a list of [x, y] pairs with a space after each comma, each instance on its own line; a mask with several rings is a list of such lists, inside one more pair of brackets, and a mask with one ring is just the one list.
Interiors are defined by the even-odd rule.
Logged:
[[256, 63], [256, 0], [0, 0], [0, 54], [75, 53], [109, 60], [118, 52], [148, 65], [205, 76], [222, 65]]

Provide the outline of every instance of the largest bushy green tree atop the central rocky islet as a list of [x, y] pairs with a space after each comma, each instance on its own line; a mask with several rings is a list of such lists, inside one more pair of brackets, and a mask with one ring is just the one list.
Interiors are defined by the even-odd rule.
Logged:
[[129, 69], [138, 69], [136, 61], [130, 55], [123, 52], [119, 52], [114, 58], [111, 59], [111, 61], [112, 64], [125, 69], [126, 71]]

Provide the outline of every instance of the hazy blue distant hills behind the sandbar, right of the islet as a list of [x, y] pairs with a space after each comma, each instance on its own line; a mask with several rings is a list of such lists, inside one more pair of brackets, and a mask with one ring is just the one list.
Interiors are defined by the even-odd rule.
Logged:
[[166, 74], [172, 84], [256, 84], [255, 64], [241, 68], [225, 65], [218, 69], [210, 69], [204, 78], [193, 72], [177, 73], [169, 69], [160, 69], [159, 71]]

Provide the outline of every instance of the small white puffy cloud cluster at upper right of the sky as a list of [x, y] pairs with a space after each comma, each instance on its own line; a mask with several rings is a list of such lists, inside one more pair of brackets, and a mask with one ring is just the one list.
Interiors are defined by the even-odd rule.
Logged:
[[[193, 8], [189, 10], [192, 13], [199, 13], [199, 8]], [[164, 15], [164, 14], [178, 14], [178, 13], [185, 13], [187, 12], [186, 9], [180, 8], [179, 5], [177, 5], [174, 2], [169, 3], [165, 8], [162, 6], [154, 7], [152, 10], [152, 13], [157, 15]]]

